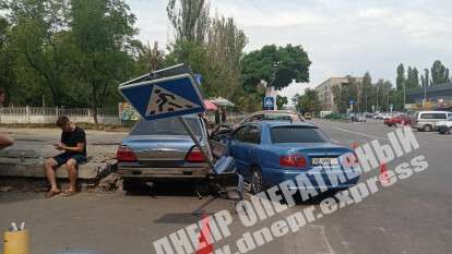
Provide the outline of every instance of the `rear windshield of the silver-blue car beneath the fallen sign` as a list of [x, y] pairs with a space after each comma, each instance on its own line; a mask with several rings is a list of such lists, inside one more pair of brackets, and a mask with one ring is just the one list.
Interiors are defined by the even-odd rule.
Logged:
[[[185, 118], [197, 136], [201, 136], [201, 122], [197, 118]], [[155, 121], [141, 120], [135, 124], [130, 135], [188, 135], [182, 123], [177, 118], [166, 118]]]

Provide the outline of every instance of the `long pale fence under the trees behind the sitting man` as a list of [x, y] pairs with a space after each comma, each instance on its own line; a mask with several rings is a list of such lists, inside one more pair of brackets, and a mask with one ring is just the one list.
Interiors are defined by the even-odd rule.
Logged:
[[[0, 123], [55, 123], [59, 116], [67, 116], [73, 122], [94, 123], [93, 112], [87, 108], [0, 108]], [[100, 109], [97, 119], [103, 124], [119, 124], [118, 114], [106, 114]]]

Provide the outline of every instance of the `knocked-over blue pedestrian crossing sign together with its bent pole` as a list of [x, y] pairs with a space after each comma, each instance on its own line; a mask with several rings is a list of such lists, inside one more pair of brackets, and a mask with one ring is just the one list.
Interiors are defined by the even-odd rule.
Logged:
[[179, 64], [143, 75], [122, 83], [119, 86], [119, 93], [146, 121], [178, 117], [207, 160], [211, 171], [214, 171], [211, 157], [207, 156], [190, 125], [181, 117], [205, 111], [204, 102], [190, 69], [185, 64]]

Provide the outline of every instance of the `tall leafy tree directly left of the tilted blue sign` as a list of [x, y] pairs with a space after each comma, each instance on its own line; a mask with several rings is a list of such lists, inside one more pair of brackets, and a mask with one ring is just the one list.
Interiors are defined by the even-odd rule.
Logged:
[[127, 51], [136, 31], [135, 17], [123, 0], [72, 0], [71, 28], [76, 46], [75, 68], [80, 85], [88, 90], [90, 107], [97, 125], [97, 108], [117, 95], [116, 84], [130, 72]]

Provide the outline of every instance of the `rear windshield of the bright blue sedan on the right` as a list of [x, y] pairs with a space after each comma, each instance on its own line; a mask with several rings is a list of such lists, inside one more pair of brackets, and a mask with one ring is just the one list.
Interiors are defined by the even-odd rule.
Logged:
[[328, 137], [314, 126], [276, 126], [270, 133], [274, 144], [328, 142]]

